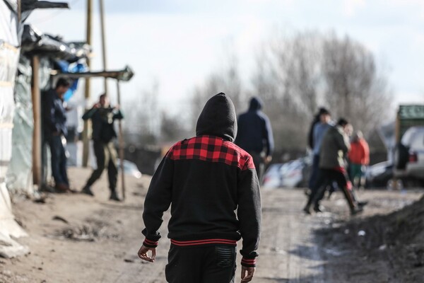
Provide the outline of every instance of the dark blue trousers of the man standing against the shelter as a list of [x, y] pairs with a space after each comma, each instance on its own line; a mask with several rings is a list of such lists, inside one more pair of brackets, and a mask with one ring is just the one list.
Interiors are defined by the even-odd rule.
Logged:
[[61, 135], [49, 137], [49, 146], [52, 153], [52, 175], [54, 183], [69, 186], [68, 174], [66, 173], [66, 153], [61, 142]]

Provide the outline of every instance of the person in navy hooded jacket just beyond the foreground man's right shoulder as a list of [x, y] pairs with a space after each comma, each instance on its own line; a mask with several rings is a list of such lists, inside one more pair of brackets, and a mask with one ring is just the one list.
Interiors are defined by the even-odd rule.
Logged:
[[271, 162], [273, 134], [268, 117], [261, 111], [259, 98], [250, 100], [249, 110], [238, 118], [235, 144], [245, 149], [252, 157], [259, 180], [264, 173], [265, 163]]

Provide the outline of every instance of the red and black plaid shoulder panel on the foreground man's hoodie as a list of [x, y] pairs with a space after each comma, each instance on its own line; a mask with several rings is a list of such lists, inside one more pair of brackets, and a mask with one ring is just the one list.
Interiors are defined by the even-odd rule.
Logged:
[[220, 137], [206, 135], [177, 142], [166, 156], [172, 160], [198, 159], [220, 162], [242, 170], [254, 168], [252, 157], [239, 146]]

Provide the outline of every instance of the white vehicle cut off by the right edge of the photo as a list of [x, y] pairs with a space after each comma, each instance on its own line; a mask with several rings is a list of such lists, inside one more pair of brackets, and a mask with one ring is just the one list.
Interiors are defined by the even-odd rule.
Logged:
[[424, 180], [424, 127], [410, 127], [394, 153], [395, 175]]

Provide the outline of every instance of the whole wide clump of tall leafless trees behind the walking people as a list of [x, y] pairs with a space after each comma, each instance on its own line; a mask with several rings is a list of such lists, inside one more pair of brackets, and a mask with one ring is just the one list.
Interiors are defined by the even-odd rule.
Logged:
[[252, 93], [269, 115], [276, 146], [302, 149], [319, 105], [346, 117], [365, 133], [387, 115], [391, 94], [374, 55], [359, 42], [334, 33], [281, 36], [257, 59]]

